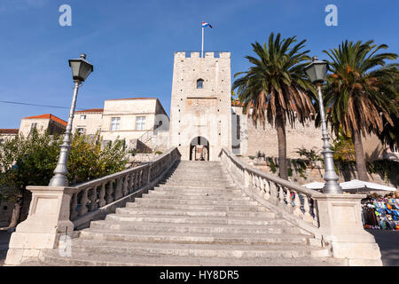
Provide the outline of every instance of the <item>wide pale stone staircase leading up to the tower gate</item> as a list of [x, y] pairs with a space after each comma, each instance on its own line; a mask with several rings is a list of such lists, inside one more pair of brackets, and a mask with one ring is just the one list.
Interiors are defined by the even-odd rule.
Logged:
[[42, 265], [340, 265], [312, 235], [251, 200], [220, 162], [179, 162], [154, 190]]

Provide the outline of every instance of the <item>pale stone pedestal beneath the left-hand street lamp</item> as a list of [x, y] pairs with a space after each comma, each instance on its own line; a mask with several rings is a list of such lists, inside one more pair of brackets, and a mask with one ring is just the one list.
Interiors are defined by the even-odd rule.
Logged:
[[41, 249], [57, 248], [59, 237], [74, 231], [69, 220], [73, 188], [63, 186], [27, 186], [32, 201], [27, 219], [12, 233], [5, 265], [37, 261]]

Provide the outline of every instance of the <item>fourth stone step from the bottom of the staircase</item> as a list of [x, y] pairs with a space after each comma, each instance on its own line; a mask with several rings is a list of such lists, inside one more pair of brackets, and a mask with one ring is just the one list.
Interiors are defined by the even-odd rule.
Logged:
[[290, 225], [209, 225], [209, 224], [175, 224], [153, 222], [123, 222], [114, 220], [92, 221], [90, 228], [102, 230], [140, 231], [140, 232], [174, 232], [174, 233], [301, 233], [298, 227]]

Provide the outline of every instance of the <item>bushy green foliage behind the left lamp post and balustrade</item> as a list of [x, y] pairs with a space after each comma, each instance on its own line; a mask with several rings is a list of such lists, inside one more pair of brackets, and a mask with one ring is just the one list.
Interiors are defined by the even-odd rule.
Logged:
[[[108, 143], [101, 149], [102, 140], [74, 135], [68, 160], [70, 185], [125, 169], [124, 141]], [[62, 137], [33, 130], [26, 138], [17, 136], [0, 145], [0, 194], [14, 203], [10, 227], [19, 223], [22, 201], [27, 185], [48, 185], [59, 157]]]

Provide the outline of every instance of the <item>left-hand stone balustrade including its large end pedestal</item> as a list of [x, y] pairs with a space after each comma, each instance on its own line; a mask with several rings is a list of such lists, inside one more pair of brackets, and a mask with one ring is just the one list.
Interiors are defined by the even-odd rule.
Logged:
[[27, 186], [32, 192], [29, 215], [12, 233], [6, 265], [37, 260], [40, 251], [57, 248], [61, 235], [90, 225], [147, 193], [180, 160], [176, 147], [153, 161], [74, 186]]

